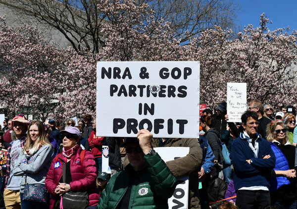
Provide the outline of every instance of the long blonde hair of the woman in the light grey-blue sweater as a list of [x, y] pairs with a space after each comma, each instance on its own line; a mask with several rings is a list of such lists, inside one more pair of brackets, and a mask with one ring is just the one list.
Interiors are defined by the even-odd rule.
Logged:
[[[30, 127], [33, 125], [36, 125], [38, 127], [38, 132], [39, 132], [39, 137], [36, 139], [35, 143], [33, 143], [33, 140], [31, 139], [30, 131], [29, 131]], [[47, 138], [44, 124], [39, 120], [33, 121], [28, 128], [27, 140], [23, 148], [23, 153], [26, 154], [26, 150], [30, 150], [30, 149], [32, 150], [32, 153], [35, 153], [39, 150], [41, 146], [46, 144], [51, 145], [51, 143], [49, 143], [49, 139]]]

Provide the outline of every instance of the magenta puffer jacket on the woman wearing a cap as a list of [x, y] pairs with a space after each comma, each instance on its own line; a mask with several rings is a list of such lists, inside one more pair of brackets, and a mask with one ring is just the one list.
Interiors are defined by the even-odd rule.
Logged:
[[[77, 152], [71, 156], [70, 171], [72, 182], [70, 182], [71, 191], [84, 191], [89, 192], [89, 206], [95, 206], [99, 201], [99, 194], [96, 193], [96, 163], [93, 154], [86, 151], [83, 165], [81, 164], [80, 152], [81, 147]], [[59, 184], [59, 180], [63, 175], [63, 162], [66, 163], [66, 157], [62, 153], [58, 154], [53, 159], [49, 167], [49, 172], [46, 178], [46, 187], [50, 194], [50, 209], [54, 208], [56, 201], [56, 194], [54, 190]]]

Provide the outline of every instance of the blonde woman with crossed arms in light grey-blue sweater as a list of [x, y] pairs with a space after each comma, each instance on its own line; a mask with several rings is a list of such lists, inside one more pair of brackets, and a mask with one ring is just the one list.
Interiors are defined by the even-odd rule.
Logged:
[[[28, 128], [27, 140], [20, 153], [13, 173], [21, 175], [21, 208], [37, 209], [46, 205], [39, 202], [24, 200], [25, 184], [45, 185], [46, 176], [53, 158], [53, 147], [46, 136], [46, 130], [41, 121], [33, 121]], [[45, 186], [44, 186], [45, 188]]]

